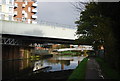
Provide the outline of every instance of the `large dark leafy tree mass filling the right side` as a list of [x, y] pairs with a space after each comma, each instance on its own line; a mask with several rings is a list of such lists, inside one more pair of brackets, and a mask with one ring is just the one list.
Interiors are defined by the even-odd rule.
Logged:
[[[94, 48], [103, 45], [105, 48], [105, 59], [114, 68], [120, 68], [120, 2], [119, 3], [95, 3], [86, 4], [85, 10], [81, 12], [77, 24], [79, 44], [93, 44]], [[111, 13], [112, 11], [112, 13]], [[114, 12], [114, 13], [113, 13]], [[112, 59], [112, 60], [110, 60]]]

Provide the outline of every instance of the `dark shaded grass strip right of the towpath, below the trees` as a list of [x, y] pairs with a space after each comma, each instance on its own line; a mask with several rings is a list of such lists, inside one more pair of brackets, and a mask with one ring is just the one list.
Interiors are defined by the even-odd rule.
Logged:
[[111, 66], [108, 63], [106, 63], [104, 59], [97, 57], [96, 61], [99, 63], [102, 69], [103, 75], [107, 79], [120, 79], [120, 75], [118, 74], [118, 72], [113, 68], [111, 68]]

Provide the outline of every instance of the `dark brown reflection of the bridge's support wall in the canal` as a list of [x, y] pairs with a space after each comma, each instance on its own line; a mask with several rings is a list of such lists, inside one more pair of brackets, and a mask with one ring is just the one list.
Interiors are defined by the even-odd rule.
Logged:
[[32, 69], [31, 65], [31, 61], [28, 59], [17, 61], [3, 61], [2, 78], [12, 79], [16, 76], [21, 76], [25, 73], [28, 73]]

